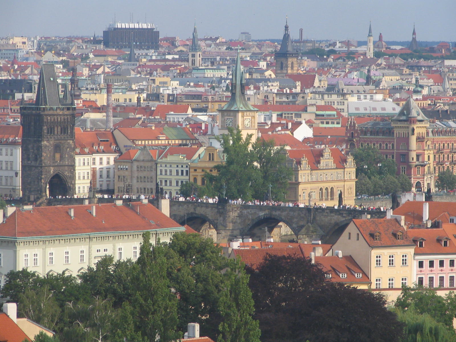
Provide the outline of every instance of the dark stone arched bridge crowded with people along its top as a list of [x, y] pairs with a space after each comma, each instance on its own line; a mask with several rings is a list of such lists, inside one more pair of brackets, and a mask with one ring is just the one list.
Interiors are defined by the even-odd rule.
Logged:
[[276, 237], [277, 227], [282, 229], [281, 235], [290, 238], [302, 241], [321, 239], [322, 242], [333, 243], [352, 218], [362, 218], [366, 213], [371, 218], [386, 216], [386, 212], [380, 211], [170, 201], [173, 220], [187, 223], [197, 231], [215, 229], [217, 242], [220, 243], [237, 236], [249, 236], [254, 241], [264, 240], [266, 231]]

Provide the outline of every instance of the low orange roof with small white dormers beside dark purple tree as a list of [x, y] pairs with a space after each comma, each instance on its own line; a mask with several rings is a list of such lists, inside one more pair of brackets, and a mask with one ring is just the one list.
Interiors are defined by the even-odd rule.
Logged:
[[[363, 269], [358, 266], [356, 261], [351, 255], [342, 256], [321, 256], [315, 257], [315, 263], [321, 265], [321, 269], [325, 273], [331, 274], [331, 281], [337, 281], [340, 283], [369, 283], [369, 277], [364, 273]], [[341, 274], [345, 273], [346, 278], [341, 278]], [[361, 274], [360, 278], [356, 277], [356, 274]]]

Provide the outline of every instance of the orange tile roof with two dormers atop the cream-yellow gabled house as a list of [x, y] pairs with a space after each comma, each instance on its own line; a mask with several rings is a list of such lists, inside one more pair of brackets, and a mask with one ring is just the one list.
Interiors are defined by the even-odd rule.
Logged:
[[[411, 234], [395, 218], [353, 219], [364, 239], [371, 247], [415, 245]], [[380, 233], [380, 239], [374, 240], [374, 233]], [[395, 232], [402, 233], [402, 239], [396, 238]]]

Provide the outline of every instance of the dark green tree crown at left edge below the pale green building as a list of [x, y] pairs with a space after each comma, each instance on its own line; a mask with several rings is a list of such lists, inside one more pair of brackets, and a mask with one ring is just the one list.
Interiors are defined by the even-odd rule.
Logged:
[[28, 269], [10, 271], [6, 274], [6, 282], [0, 290], [0, 295], [17, 303], [19, 295], [24, 293], [26, 289], [37, 290], [43, 284], [44, 279], [36, 272], [30, 272]]

